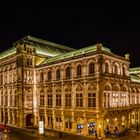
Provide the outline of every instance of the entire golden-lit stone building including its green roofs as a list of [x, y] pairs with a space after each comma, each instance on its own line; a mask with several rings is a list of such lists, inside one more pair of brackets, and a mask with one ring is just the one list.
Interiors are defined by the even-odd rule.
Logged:
[[27, 36], [0, 54], [0, 122], [98, 136], [138, 124], [140, 69], [129, 65], [102, 44], [75, 50]]

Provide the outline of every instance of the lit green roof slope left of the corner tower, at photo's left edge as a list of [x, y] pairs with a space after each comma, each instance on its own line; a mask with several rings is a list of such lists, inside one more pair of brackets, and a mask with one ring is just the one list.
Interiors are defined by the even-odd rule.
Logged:
[[15, 47], [9, 48], [9, 49], [0, 53], [0, 59], [5, 58], [7, 56], [10, 56], [14, 53], [16, 53], [16, 48]]

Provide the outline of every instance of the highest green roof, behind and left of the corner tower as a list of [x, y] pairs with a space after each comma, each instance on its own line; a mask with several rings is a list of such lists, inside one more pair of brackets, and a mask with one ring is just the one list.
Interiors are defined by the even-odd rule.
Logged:
[[56, 56], [62, 53], [66, 53], [68, 51], [73, 51], [75, 49], [60, 45], [57, 43], [53, 43], [50, 41], [46, 41], [43, 39], [39, 39], [32, 36], [26, 36], [16, 42], [13, 43], [13, 47], [3, 51], [0, 53], [0, 59], [5, 58], [9, 55], [16, 53], [16, 45], [21, 42], [31, 43], [33, 47], [36, 48], [36, 53], [46, 56]]

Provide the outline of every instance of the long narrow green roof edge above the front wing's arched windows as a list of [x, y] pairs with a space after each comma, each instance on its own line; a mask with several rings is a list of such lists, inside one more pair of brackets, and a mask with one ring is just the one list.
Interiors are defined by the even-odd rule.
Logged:
[[[98, 49], [97, 45], [92, 45], [92, 46], [89, 46], [89, 47], [86, 47], [86, 48], [78, 49], [78, 50], [75, 50], [75, 51], [65, 53], [63, 55], [61, 54], [61, 55], [46, 59], [46, 61], [44, 61], [42, 64], [48, 64], [48, 63], [52, 63], [52, 62], [55, 62], [55, 61], [60, 61], [60, 60], [63, 60], [63, 59], [76, 57], [76, 56], [79, 56], [79, 55], [82, 55], [82, 54], [88, 54], [88, 53], [97, 51], [97, 49]], [[108, 53], [111, 53], [110, 49], [108, 49], [106, 47], [101, 47], [101, 50], [105, 51], [105, 52], [108, 52]]]

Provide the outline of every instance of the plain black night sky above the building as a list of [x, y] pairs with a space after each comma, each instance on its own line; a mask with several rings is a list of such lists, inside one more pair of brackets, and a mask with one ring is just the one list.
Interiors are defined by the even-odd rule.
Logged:
[[117, 55], [130, 54], [140, 67], [140, 8], [137, 3], [18, 3], [0, 10], [0, 51], [27, 36], [73, 48], [96, 43]]

